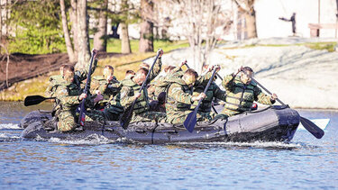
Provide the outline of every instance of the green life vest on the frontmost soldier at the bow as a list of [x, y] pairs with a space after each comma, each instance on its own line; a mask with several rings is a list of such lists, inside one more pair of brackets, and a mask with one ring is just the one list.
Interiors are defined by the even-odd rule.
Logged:
[[235, 77], [230, 89], [226, 89], [227, 96], [224, 108], [237, 112], [250, 111], [256, 86], [252, 81], [249, 85], [244, 85], [240, 77]]

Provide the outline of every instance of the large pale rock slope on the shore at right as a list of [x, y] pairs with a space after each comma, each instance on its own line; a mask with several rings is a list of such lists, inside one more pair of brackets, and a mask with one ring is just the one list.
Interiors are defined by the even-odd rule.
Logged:
[[[221, 65], [221, 76], [231, 74], [241, 66], [251, 67], [261, 85], [293, 108], [338, 109], [338, 52], [313, 50], [305, 45], [320, 41], [337, 40], [232, 41], [215, 49], [209, 64]], [[165, 54], [162, 61], [177, 65], [187, 59], [194, 68], [192, 55], [189, 49], [175, 50]], [[151, 62], [151, 59], [147, 61]]]

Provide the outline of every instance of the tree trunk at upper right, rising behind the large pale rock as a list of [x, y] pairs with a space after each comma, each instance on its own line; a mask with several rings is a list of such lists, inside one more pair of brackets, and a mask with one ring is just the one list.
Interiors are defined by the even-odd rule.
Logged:
[[244, 14], [248, 38], [257, 38], [255, 0], [233, 0], [240, 13]]

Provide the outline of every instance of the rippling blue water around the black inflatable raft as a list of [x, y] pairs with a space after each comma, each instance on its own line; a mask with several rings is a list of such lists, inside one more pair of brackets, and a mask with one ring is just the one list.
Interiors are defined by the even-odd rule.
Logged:
[[[48, 109], [50, 104], [39, 107]], [[22, 140], [18, 123], [31, 109], [0, 102], [0, 189], [337, 189], [338, 112], [323, 139], [297, 131], [294, 140], [255, 143], [123, 144], [86, 140]]]

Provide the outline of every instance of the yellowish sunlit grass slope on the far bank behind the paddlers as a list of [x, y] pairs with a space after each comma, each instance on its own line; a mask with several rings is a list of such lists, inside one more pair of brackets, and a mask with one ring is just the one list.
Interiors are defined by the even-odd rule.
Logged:
[[[154, 41], [154, 50], [161, 48], [164, 52], [188, 47], [187, 41]], [[143, 59], [148, 59], [156, 55], [156, 52], [138, 53], [138, 41], [131, 41], [133, 52], [129, 55], [123, 55], [118, 58], [100, 59], [98, 67], [93, 76], [102, 75], [105, 65], [114, 67], [114, 76], [121, 80], [124, 78], [126, 70], [137, 70]], [[121, 52], [121, 41], [114, 40], [108, 43], [108, 52]], [[0, 101], [23, 101], [27, 95], [43, 95], [46, 87], [49, 85], [50, 76], [58, 75], [57, 71], [52, 71], [40, 77], [24, 80], [15, 83], [8, 89], [0, 92]]]

